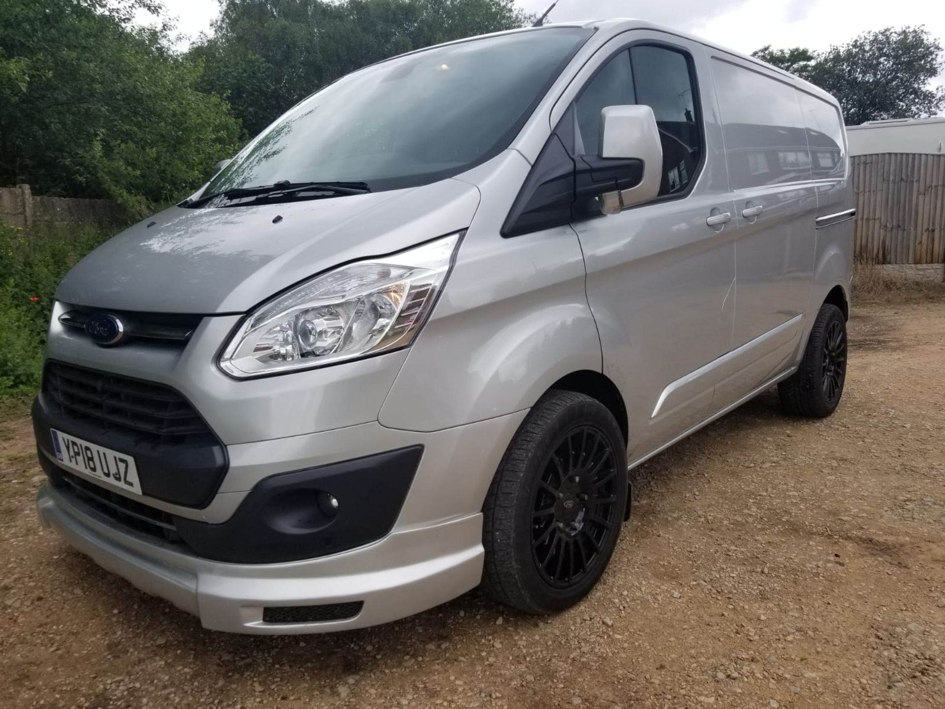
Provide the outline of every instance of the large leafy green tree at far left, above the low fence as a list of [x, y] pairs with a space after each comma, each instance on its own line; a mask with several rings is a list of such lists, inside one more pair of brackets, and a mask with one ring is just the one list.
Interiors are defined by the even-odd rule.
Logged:
[[241, 137], [226, 101], [198, 91], [199, 61], [142, 28], [149, 0], [0, 0], [0, 184], [117, 199], [181, 196]]

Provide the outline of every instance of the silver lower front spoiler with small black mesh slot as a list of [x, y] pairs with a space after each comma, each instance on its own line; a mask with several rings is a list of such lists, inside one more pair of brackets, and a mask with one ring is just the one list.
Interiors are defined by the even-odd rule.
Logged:
[[[374, 544], [310, 561], [236, 564], [200, 559], [116, 528], [108, 517], [66, 500], [48, 485], [40, 489], [36, 504], [43, 526], [53, 527], [78, 551], [145, 593], [197, 615], [213, 631], [366, 628], [433, 608], [474, 588], [482, 577], [481, 514], [394, 532]], [[363, 605], [342, 620], [263, 619], [264, 609], [342, 603]]]

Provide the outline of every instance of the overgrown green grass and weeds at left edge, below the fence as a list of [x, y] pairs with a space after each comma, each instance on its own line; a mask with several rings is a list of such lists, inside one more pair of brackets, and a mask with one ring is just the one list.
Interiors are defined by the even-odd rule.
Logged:
[[111, 235], [82, 226], [27, 233], [0, 223], [0, 418], [21, 411], [39, 388], [62, 277]]

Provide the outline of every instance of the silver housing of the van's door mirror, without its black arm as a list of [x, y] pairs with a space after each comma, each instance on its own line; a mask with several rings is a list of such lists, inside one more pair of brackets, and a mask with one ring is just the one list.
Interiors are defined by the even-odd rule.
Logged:
[[649, 106], [608, 106], [600, 112], [602, 161], [639, 160], [643, 177], [632, 187], [605, 193], [601, 211], [616, 214], [624, 207], [640, 204], [660, 194], [662, 141], [653, 109]]

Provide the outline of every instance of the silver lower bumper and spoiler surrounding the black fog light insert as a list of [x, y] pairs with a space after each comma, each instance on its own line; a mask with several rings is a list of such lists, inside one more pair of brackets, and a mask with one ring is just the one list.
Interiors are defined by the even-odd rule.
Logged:
[[[380, 424], [229, 447], [231, 469], [215, 503], [189, 510], [195, 519], [223, 523], [256, 482], [299, 470], [404, 446], [423, 455], [397, 521], [379, 541], [298, 562], [229, 563], [163, 544], [66, 497], [49, 484], [37, 500], [43, 525], [112, 573], [148, 594], [195, 614], [205, 628], [246, 633], [339, 631], [420, 613], [474, 588], [482, 576], [480, 510], [507, 442], [525, 411], [441, 431], [416, 433]], [[237, 492], [244, 491], [244, 492]], [[227, 502], [232, 497], [234, 502]], [[222, 501], [221, 501], [222, 500]], [[155, 500], [142, 500], [169, 508]], [[220, 502], [220, 505], [217, 505]], [[225, 504], [224, 504], [225, 503]], [[342, 500], [344, 505], [346, 500]], [[169, 510], [180, 514], [182, 509]], [[363, 603], [344, 620], [267, 622], [265, 609]]]

